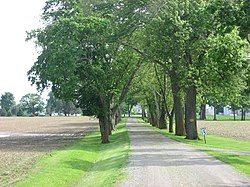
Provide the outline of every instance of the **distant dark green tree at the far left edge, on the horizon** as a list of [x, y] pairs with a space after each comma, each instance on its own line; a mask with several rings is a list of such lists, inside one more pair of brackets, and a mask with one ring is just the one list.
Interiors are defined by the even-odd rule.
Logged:
[[15, 106], [15, 98], [14, 95], [10, 92], [5, 92], [1, 96], [1, 108], [3, 116], [11, 116], [12, 108]]

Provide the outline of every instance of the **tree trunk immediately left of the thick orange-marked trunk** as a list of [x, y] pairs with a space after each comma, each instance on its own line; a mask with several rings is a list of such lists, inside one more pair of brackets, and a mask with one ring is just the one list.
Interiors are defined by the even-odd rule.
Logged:
[[174, 116], [175, 116], [175, 135], [186, 135], [184, 126], [184, 111], [180, 96], [180, 87], [176, 81], [176, 73], [173, 71], [171, 75], [172, 92], [174, 98]]

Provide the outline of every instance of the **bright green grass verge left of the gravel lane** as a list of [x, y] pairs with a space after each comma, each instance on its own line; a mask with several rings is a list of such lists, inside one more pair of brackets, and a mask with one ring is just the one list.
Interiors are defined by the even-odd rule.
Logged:
[[100, 133], [93, 132], [41, 159], [26, 180], [16, 186], [113, 186], [125, 177], [122, 167], [129, 156], [124, 122], [118, 125], [110, 141], [101, 144]]

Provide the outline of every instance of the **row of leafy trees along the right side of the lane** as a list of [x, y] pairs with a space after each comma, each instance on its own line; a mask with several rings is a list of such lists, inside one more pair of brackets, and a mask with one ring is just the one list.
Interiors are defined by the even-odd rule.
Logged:
[[[197, 139], [197, 111], [205, 106], [250, 107], [249, 1], [169, 1], [145, 23], [133, 49], [145, 56], [131, 95], [159, 128]], [[160, 8], [160, 11], [158, 10]], [[152, 63], [153, 62], [153, 63]]]

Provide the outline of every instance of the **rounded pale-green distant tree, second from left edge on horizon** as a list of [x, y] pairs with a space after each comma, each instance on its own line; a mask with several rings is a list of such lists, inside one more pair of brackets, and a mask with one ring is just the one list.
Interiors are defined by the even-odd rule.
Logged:
[[21, 98], [20, 106], [23, 111], [33, 116], [44, 110], [44, 102], [38, 94], [26, 94]]

